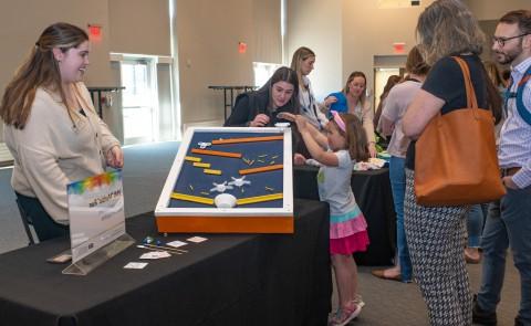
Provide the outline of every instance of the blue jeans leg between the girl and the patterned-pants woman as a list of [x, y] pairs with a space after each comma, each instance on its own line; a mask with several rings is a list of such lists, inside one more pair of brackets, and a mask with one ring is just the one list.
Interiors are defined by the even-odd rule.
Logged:
[[407, 249], [406, 231], [404, 231], [404, 196], [406, 192], [405, 159], [392, 156], [389, 160], [391, 189], [396, 212], [396, 246], [398, 250], [398, 264], [400, 265], [402, 281], [412, 281], [413, 267]]

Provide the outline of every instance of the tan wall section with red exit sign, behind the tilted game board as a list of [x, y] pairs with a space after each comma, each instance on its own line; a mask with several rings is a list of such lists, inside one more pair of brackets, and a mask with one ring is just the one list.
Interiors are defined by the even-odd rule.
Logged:
[[223, 94], [208, 86], [253, 85], [252, 61], [281, 61], [280, 0], [176, 0], [176, 18], [183, 125], [223, 119]]

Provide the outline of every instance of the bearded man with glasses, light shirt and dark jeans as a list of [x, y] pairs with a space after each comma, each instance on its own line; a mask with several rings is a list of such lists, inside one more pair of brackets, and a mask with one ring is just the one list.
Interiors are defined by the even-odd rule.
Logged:
[[506, 13], [496, 28], [492, 51], [511, 65], [506, 93], [508, 117], [501, 128], [498, 158], [507, 194], [490, 206], [483, 230], [481, 288], [473, 322], [496, 325], [506, 255], [511, 246], [520, 273], [521, 301], [514, 325], [531, 325], [531, 11]]

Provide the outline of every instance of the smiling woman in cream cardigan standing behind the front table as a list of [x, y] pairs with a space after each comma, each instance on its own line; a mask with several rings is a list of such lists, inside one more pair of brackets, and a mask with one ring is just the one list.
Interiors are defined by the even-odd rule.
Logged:
[[11, 186], [40, 241], [69, 233], [67, 183], [123, 166], [119, 143], [82, 83], [88, 52], [82, 29], [48, 27], [0, 105], [3, 138], [14, 158]]

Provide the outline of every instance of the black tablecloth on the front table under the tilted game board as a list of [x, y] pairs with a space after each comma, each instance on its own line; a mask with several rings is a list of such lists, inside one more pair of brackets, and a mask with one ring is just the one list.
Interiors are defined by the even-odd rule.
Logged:
[[[62, 275], [52, 240], [0, 255], [1, 325], [326, 325], [331, 309], [327, 206], [295, 200], [295, 234], [206, 234], [189, 253], [124, 270], [131, 246], [87, 276]], [[127, 219], [140, 241], [153, 213]]]

